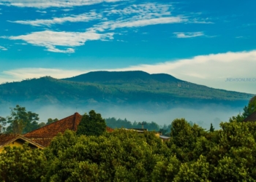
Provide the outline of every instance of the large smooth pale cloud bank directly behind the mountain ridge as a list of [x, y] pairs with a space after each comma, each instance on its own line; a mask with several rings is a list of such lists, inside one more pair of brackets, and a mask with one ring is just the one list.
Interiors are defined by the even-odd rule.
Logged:
[[[146, 71], [150, 74], [165, 73], [178, 79], [225, 90], [256, 94], [256, 50], [250, 52], [227, 52], [216, 55], [200, 55], [154, 65], [138, 65], [128, 68], [105, 69], [106, 71]], [[102, 69], [101, 69], [102, 70]], [[4, 71], [0, 82], [18, 81], [40, 76], [67, 78], [94, 70], [63, 70], [46, 68], [20, 68]], [[9, 77], [7, 77], [9, 76]], [[227, 79], [240, 79], [227, 82]], [[242, 79], [247, 79], [247, 82]], [[251, 79], [249, 81], [248, 79]]]

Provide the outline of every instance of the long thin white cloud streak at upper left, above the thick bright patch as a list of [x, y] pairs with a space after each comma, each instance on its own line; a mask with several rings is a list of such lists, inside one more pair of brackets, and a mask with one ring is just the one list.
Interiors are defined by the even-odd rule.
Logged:
[[89, 12], [80, 15], [70, 15], [69, 17], [53, 17], [53, 19], [50, 20], [17, 20], [10, 22], [33, 26], [50, 26], [53, 24], [62, 24], [66, 22], [88, 22], [90, 20], [95, 20], [99, 18], [101, 18], [101, 15], [98, 15], [96, 12]]

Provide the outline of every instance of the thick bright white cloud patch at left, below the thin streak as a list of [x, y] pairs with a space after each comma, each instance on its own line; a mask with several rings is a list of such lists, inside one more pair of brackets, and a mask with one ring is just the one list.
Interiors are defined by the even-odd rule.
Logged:
[[56, 46], [61, 47], [78, 47], [85, 44], [86, 41], [113, 39], [113, 33], [95, 33], [95, 32], [57, 32], [57, 31], [39, 31], [29, 33], [23, 36], [5, 37], [12, 40], [23, 40], [35, 46], [46, 47], [50, 52], [75, 52], [72, 48], [59, 50]]

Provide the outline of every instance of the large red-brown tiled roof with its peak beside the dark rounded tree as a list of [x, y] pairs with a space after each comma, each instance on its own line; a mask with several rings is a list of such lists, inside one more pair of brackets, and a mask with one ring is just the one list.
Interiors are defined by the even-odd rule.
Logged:
[[[59, 132], [64, 133], [65, 130], [73, 130], [76, 132], [82, 117], [83, 116], [80, 114], [75, 113], [57, 122], [53, 122], [44, 127], [40, 127], [37, 130], [28, 132], [24, 137], [29, 138], [31, 141], [34, 141], [39, 145], [48, 146], [53, 137], [55, 137]], [[106, 127], [106, 130], [107, 132], [113, 132], [113, 129], [110, 127]]]

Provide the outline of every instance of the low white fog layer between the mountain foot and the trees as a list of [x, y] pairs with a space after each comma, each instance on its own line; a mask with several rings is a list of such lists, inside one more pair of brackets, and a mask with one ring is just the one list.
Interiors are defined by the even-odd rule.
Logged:
[[[89, 113], [92, 109], [103, 118], [115, 117], [116, 119], [127, 119], [130, 122], [156, 122], [159, 125], [170, 124], [173, 119], [185, 118], [188, 122], [194, 122], [207, 130], [212, 123], [215, 129], [219, 129], [220, 122], [228, 122], [231, 116], [236, 116], [239, 112], [243, 111], [244, 106], [241, 108], [231, 108], [230, 106], [202, 106], [200, 108], [172, 108], [162, 110], [147, 110], [146, 107], [132, 107], [132, 106], [31, 106], [31, 104], [20, 104], [26, 107], [27, 111], [32, 111], [39, 114], [39, 122], [47, 122], [48, 118], [63, 119], [70, 116], [75, 112], [79, 114]], [[0, 116], [9, 116], [10, 107], [14, 106], [1, 106]]]

